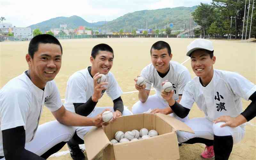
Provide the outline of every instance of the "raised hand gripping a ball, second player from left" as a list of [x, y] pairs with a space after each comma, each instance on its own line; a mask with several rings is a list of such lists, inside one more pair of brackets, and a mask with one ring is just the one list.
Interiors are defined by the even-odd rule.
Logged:
[[108, 82], [101, 82], [100, 84], [97, 83], [97, 80], [101, 77], [99, 76], [99, 72], [93, 76], [93, 94], [92, 94], [92, 101], [97, 102], [101, 97], [101, 91], [106, 90], [107, 88], [104, 85], [108, 85]]

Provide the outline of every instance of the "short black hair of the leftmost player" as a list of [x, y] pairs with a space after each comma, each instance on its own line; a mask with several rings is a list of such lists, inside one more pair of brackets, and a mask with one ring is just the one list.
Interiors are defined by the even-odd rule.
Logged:
[[40, 34], [32, 38], [29, 42], [28, 46], [28, 54], [33, 59], [35, 52], [38, 50], [38, 46], [40, 43], [52, 43], [60, 46], [61, 54], [62, 54], [62, 46], [57, 38], [50, 34]]

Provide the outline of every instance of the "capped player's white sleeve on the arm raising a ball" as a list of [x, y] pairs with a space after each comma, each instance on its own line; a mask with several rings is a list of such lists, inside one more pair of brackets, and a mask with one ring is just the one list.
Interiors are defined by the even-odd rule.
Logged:
[[184, 89], [183, 94], [182, 94], [182, 98], [180, 100], [180, 104], [183, 107], [186, 107], [188, 109], [191, 109], [194, 102], [195, 102], [195, 99], [194, 99], [193, 94], [192, 94], [192, 89], [190, 88], [190, 82], [188, 82], [186, 84], [185, 89]]

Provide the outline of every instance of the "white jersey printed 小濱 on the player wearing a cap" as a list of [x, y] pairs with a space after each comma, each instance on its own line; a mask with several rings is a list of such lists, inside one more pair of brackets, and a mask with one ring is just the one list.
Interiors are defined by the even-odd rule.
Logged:
[[241, 98], [249, 100], [255, 91], [256, 85], [243, 76], [214, 69], [212, 80], [206, 87], [202, 86], [199, 77], [186, 85], [180, 104], [191, 109], [196, 102], [210, 121], [223, 115], [236, 117], [242, 113]]

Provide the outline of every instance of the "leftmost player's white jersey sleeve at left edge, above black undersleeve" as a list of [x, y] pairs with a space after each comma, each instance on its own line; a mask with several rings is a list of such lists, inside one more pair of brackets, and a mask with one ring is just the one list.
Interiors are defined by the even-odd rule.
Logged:
[[29, 92], [24, 88], [6, 88], [0, 92], [1, 131], [24, 126], [31, 108]]

